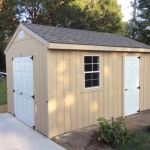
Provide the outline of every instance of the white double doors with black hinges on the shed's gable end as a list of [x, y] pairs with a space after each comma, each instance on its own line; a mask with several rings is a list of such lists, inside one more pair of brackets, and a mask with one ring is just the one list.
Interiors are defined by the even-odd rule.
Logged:
[[34, 128], [34, 87], [32, 57], [13, 58], [14, 112], [30, 127]]

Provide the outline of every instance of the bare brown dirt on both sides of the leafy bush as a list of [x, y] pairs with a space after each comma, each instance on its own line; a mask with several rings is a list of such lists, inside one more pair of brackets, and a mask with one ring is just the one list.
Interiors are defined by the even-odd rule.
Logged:
[[[150, 125], [150, 110], [124, 118], [127, 127], [136, 131]], [[67, 150], [113, 150], [114, 147], [98, 141], [99, 126], [93, 125], [67, 134], [59, 135], [52, 140]]]

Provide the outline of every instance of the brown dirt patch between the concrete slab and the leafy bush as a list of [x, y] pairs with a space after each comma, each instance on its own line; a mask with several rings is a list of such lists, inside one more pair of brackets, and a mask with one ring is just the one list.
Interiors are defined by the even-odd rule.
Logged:
[[112, 150], [113, 146], [100, 143], [99, 128], [97, 125], [76, 130], [54, 137], [52, 140], [68, 150]]

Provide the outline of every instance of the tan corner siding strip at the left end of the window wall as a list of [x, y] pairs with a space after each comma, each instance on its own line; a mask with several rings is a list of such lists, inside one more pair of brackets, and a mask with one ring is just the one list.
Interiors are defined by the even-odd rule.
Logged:
[[53, 135], [58, 135], [58, 101], [57, 101], [57, 56], [56, 51], [50, 51], [51, 52], [51, 59], [49, 60], [51, 62], [50, 64], [50, 72], [49, 75], [51, 75], [50, 82], [51, 89], [49, 92], [51, 92], [50, 95], [50, 102], [49, 102], [49, 124], [50, 124], [50, 137]]

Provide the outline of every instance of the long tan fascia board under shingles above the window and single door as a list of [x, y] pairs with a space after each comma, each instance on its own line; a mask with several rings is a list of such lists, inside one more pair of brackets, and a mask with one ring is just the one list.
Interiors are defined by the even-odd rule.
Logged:
[[94, 46], [94, 45], [76, 45], [76, 44], [60, 44], [50, 43], [49, 49], [62, 50], [93, 50], [93, 51], [112, 51], [112, 52], [150, 52], [150, 49], [145, 48], [128, 48], [128, 47], [112, 47], [112, 46]]

